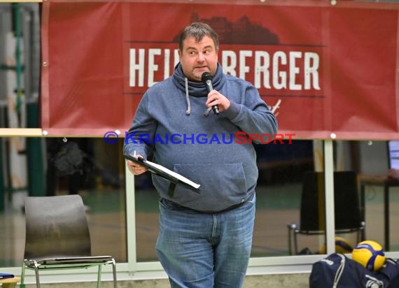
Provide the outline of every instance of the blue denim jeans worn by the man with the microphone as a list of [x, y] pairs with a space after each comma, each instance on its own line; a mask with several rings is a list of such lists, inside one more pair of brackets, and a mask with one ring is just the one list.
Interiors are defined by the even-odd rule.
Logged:
[[160, 201], [158, 259], [174, 287], [241, 287], [251, 253], [255, 196], [221, 213]]

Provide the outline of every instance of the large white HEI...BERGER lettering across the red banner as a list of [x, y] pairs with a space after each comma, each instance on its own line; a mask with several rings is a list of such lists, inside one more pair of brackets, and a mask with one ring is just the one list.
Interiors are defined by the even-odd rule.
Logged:
[[[145, 80], [146, 87], [153, 86], [158, 82], [155, 81], [156, 73], [162, 75], [160, 80], [168, 78], [172, 60], [174, 66], [179, 62], [178, 51], [174, 50], [172, 59], [170, 49], [131, 48], [130, 87], [144, 87]], [[237, 57], [237, 52], [223, 50], [221, 54], [224, 73], [251, 79], [258, 89], [321, 90], [318, 76], [320, 57], [316, 52], [276, 51], [271, 55], [267, 51], [240, 50]], [[163, 66], [160, 66], [162, 60]]]

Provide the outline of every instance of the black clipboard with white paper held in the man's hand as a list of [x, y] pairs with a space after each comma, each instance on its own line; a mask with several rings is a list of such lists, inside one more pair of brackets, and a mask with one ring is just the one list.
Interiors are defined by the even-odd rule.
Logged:
[[196, 192], [198, 194], [201, 193], [201, 191], [200, 191], [201, 185], [200, 184], [197, 184], [197, 183], [191, 181], [190, 179], [184, 177], [183, 175], [180, 175], [179, 173], [171, 171], [168, 168], [166, 168], [160, 164], [156, 164], [151, 161], [148, 161], [141, 156], [134, 157], [131, 155], [124, 154], [123, 157], [125, 157], [125, 159], [127, 159], [127, 160], [133, 161], [134, 163], [144, 166], [147, 169], [147, 171], [169, 180], [171, 182], [171, 187], [169, 187], [169, 195], [171, 195], [171, 196], [173, 196], [174, 187], [176, 187], [177, 184], [184, 185], [185, 187], [192, 189], [193, 192]]

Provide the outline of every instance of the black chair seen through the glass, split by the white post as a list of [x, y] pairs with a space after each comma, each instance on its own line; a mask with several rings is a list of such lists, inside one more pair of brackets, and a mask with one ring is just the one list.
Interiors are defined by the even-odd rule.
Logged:
[[[308, 171], [302, 181], [300, 225], [288, 224], [288, 252], [298, 253], [297, 235], [325, 233], [324, 173]], [[353, 171], [334, 172], [335, 233], [357, 232], [357, 240], [364, 239], [365, 222], [358, 201], [358, 179]]]

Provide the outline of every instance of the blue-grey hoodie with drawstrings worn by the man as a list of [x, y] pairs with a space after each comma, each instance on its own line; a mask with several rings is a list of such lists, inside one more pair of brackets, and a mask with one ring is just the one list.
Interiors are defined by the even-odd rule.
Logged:
[[177, 64], [172, 77], [144, 94], [123, 148], [124, 154], [153, 154], [151, 161], [199, 183], [200, 194], [177, 185], [169, 196], [169, 181], [153, 175], [162, 198], [210, 213], [243, 203], [255, 193], [256, 154], [252, 144], [239, 144], [242, 135], [273, 136], [277, 131], [276, 118], [249, 82], [223, 74], [218, 64], [212, 85], [231, 104], [218, 116], [212, 111], [205, 116], [207, 87], [189, 81]]

